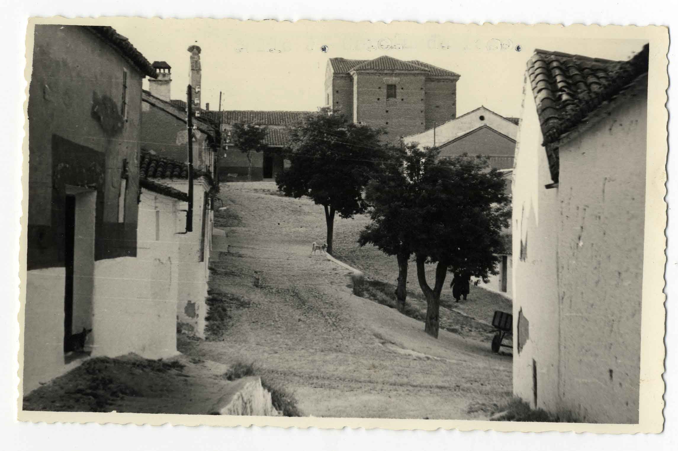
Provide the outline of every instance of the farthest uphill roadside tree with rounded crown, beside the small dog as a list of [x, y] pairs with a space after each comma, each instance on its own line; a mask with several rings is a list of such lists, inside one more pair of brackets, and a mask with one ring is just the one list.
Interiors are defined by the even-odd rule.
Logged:
[[325, 208], [327, 253], [332, 254], [334, 216], [363, 213], [363, 190], [383, 164], [383, 130], [349, 121], [330, 109], [306, 115], [288, 129], [285, 157], [290, 168], [277, 174], [278, 189], [292, 197], [310, 197]]

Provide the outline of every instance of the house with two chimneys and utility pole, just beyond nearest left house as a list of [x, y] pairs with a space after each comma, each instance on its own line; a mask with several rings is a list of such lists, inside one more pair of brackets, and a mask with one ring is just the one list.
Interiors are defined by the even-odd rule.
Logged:
[[[175, 260], [179, 280], [175, 298], [177, 329], [204, 337], [207, 315], [205, 298], [214, 224], [212, 194], [218, 189], [215, 162], [220, 134], [218, 125], [205, 117], [201, 109], [200, 47], [191, 45], [188, 52], [191, 53], [191, 83], [195, 83], [195, 86], [191, 85], [193, 197], [189, 204], [186, 102], [170, 98], [172, 67], [167, 62], [156, 61], [153, 67], [158, 77], [149, 80], [149, 90], [142, 92], [140, 177], [144, 193], [140, 209], [156, 215], [153, 218], [155, 229], [151, 241], [157, 241], [165, 234], [166, 240], [173, 243], [172, 246], [178, 246]], [[189, 210], [192, 219], [188, 218]], [[172, 216], [163, 218], [163, 212], [167, 215], [172, 212]], [[191, 230], [188, 230], [189, 225]], [[156, 251], [164, 252], [162, 248]]]

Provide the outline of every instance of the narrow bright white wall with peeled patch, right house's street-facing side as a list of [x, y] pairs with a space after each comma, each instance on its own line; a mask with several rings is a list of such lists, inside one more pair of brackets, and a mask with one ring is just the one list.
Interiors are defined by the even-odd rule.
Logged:
[[555, 410], [559, 406], [559, 205], [557, 189], [544, 189], [551, 174], [542, 141], [527, 85], [513, 174], [513, 391], [534, 407], [536, 388], [536, 406]]

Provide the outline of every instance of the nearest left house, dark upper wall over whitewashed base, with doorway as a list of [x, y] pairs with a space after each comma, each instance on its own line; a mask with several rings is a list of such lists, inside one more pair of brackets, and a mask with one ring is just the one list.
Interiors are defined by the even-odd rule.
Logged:
[[172, 264], [137, 247], [142, 79], [156, 75], [109, 26], [35, 26], [24, 393], [87, 355], [176, 354]]

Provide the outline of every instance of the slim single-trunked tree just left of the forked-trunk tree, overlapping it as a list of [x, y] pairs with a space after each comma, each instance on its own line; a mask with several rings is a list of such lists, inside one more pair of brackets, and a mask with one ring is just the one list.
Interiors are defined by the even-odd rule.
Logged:
[[389, 154], [393, 163], [375, 174], [367, 184], [365, 199], [370, 203], [370, 218], [360, 232], [358, 243], [365, 246], [372, 243], [384, 254], [395, 255], [398, 262], [398, 284], [395, 290], [397, 308], [405, 313], [407, 299], [407, 268], [412, 256], [412, 224], [418, 221], [416, 215], [416, 180], [419, 176], [418, 144], [408, 144], [407, 151], [391, 147]]

